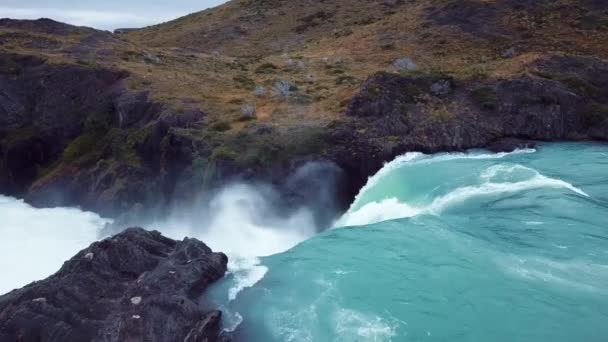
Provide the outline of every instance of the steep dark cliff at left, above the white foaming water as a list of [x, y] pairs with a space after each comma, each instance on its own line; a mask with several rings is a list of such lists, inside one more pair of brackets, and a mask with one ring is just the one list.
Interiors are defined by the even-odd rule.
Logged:
[[[161, 159], [179, 155], [170, 144], [161, 150], [161, 141], [179, 119], [145, 93], [127, 91], [126, 72], [0, 58], [3, 193], [115, 213], [135, 201], [152, 205], [151, 197], [171, 187], [171, 169]], [[157, 181], [154, 188], [150, 181]]]

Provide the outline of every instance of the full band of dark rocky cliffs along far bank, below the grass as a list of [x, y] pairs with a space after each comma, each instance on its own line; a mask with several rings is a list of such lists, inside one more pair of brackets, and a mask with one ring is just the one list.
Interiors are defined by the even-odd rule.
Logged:
[[[5, 94], [0, 97], [0, 192], [43, 207], [78, 205], [109, 217], [130, 215], [124, 224], [141, 224], [133, 213], [162, 213], [235, 180], [265, 181], [276, 185], [286, 202], [307, 204], [300, 190], [310, 187], [289, 188], [289, 182], [310, 161], [334, 165], [333, 196], [345, 208], [383, 163], [408, 151], [508, 151], [533, 141], [608, 140], [608, 63], [596, 58], [555, 56], [510, 80], [375, 74], [350, 101], [345, 121], [322, 127], [307, 150], [263, 165], [255, 158], [220, 154], [213, 149], [218, 142], [184, 134], [187, 127], [205, 129], [204, 113], [174, 112], [132, 93], [121, 85], [120, 73], [17, 55], [2, 58], [19, 72], [0, 70]], [[70, 81], [61, 76], [66, 74], [80, 76]], [[32, 88], [39, 79], [46, 82]], [[74, 100], [58, 101], [61, 94]], [[28, 105], [32, 96], [33, 106]], [[79, 114], [104, 108], [109, 109], [105, 123]], [[88, 137], [91, 125], [105, 130], [87, 147], [94, 149], [74, 147], [70, 139]], [[243, 136], [267, 144], [258, 151], [262, 155], [264, 149], [281, 148], [265, 134]], [[220, 143], [226, 144], [220, 149], [232, 144]], [[74, 149], [84, 155], [69, 160]]]

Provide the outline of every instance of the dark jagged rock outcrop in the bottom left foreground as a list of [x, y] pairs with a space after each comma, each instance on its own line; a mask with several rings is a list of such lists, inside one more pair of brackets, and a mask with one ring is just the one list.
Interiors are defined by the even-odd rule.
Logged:
[[216, 341], [221, 312], [198, 301], [227, 261], [195, 239], [127, 229], [0, 297], [0, 341]]

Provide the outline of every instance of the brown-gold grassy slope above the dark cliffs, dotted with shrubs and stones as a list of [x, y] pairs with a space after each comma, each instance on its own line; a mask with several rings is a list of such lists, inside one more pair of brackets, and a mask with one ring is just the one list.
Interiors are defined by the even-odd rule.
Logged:
[[[176, 108], [189, 99], [189, 106], [195, 103], [212, 121], [229, 122], [238, 131], [246, 126], [239, 122], [244, 104], [257, 108], [260, 122], [280, 128], [340, 120], [361, 81], [391, 70], [399, 57], [459, 78], [509, 78], [554, 53], [608, 58], [607, 18], [606, 8], [584, 0], [425, 0], [395, 6], [380, 0], [234, 0], [108, 38], [98, 49], [112, 53], [103, 58], [94, 52], [42, 53], [56, 61], [128, 70], [133, 89], [150, 90]], [[62, 44], [77, 44], [78, 38], [62, 37]], [[516, 57], [503, 58], [511, 47]], [[41, 53], [19, 41], [1, 48]], [[146, 53], [160, 62], [145, 63]], [[288, 67], [289, 59], [296, 67]], [[344, 65], [334, 65], [337, 59]], [[276, 69], [263, 72], [260, 66], [268, 63]], [[298, 85], [299, 101], [253, 96], [255, 85], [271, 93], [279, 79]]]

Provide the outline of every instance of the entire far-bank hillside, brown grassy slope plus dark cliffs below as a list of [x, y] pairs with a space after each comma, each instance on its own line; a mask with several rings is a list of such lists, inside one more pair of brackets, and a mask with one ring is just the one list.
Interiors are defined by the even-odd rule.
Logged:
[[234, 0], [116, 35], [2, 20], [0, 192], [117, 215], [322, 159], [345, 204], [407, 150], [605, 140], [607, 41], [600, 0]]

